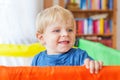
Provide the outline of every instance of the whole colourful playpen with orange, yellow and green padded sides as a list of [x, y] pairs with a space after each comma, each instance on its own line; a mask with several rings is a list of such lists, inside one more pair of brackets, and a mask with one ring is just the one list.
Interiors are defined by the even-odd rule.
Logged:
[[0, 44], [0, 80], [120, 80], [120, 51], [82, 39], [79, 43], [93, 59], [104, 62], [98, 74], [84, 66], [30, 66], [33, 56], [45, 50], [39, 43]]

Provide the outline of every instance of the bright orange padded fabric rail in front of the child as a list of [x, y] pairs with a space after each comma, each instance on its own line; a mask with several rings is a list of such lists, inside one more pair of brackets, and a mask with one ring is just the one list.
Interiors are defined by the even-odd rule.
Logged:
[[84, 66], [0, 66], [0, 80], [120, 80], [120, 67], [104, 66], [98, 74], [90, 74]]

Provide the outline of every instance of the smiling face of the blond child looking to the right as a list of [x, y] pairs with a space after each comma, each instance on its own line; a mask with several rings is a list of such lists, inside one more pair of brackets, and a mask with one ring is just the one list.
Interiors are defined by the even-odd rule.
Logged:
[[57, 21], [47, 26], [42, 35], [47, 54], [64, 53], [71, 49], [75, 42], [75, 27], [71, 22]]

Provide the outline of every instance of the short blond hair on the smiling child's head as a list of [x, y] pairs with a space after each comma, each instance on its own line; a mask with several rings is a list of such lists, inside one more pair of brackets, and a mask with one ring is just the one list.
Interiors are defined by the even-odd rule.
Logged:
[[58, 17], [61, 17], [63, 21], [71, 19], [72, 26], [75, 26], [75, 21], [72, 13], [58, 5], [52, 6], [41, 11], [36, 20], [36, 30], [37, 32], [44, 33], [46, 27], [52, 23], [55, 23]]

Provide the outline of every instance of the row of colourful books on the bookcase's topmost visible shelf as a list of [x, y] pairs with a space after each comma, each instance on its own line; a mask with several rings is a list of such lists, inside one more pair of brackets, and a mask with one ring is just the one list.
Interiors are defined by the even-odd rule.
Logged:
[[77, 3], [81, 10], [113, 9], [113, 0], [67, 0], [67, 3]]

